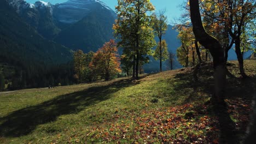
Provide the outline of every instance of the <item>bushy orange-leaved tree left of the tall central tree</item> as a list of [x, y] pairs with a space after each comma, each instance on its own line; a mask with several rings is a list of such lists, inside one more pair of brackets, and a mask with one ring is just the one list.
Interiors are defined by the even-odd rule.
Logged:
[[101, 76], [105, 80], [110, 80], [112, 76], [120, 73], [121, 69], [117, 52], [117, 44], [115, 44], [113, 39], [105, 43], [101, 49], [98, 49], [90, 63], [90, 68], [94, 71], [94, 74]]

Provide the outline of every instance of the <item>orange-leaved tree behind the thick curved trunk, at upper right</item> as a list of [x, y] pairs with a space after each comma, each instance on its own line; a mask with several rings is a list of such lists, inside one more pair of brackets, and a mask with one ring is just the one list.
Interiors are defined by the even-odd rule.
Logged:
[[243, 51], [250, 47], [246, 35], [249, 35], [248, 26], [255, 25], [255, 1], [202, 1], [201, 12], [206, 29], [219, 39], [225, 49], [225, 61], [228, 59], [228, 51], [235, 44], [240, 73], [247, 77], [243, 68]]

